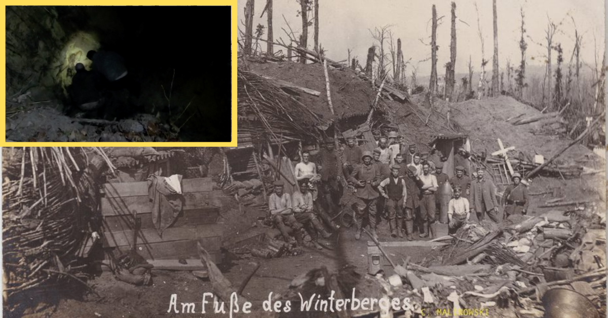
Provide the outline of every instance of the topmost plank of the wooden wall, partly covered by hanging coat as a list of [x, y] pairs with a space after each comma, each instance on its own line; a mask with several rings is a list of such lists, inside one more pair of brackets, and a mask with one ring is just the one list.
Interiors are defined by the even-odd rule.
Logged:
[[[182, 192], [205, 192], [213, 190], [211, 178], [182, 179]], [[148, 195], [148, 182], [106, 183], [103, 185], [106, 198]]]

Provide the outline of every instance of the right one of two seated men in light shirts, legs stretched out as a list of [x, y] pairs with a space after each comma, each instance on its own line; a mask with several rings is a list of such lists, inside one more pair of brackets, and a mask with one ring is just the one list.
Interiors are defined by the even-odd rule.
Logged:
[[319, 231], [323, 238], [331, 237], [331, 234], [325, 230], [323, 224], [321, 224], [314, 214], [313, 194], [308, 190], [308, 181], [302, 179], [298, 181], [298, 184], [300, 185], [300, 191], [295, 190], [292, 196], [292, 209], [295, 219], [304, 226], [308, 226], [308, 232], [311, 234], [311, 237], [317, 237], [315, 235], [316, 231]]

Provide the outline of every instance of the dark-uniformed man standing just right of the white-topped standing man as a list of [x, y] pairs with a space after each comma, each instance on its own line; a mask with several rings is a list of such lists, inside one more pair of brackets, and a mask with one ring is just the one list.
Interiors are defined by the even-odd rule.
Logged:
[[342, 178], [342, 159], [334, 149], [334, 139], [325, 139], [325, 147], [319, 151], [317, 156], [317, 168], [321, 175], [319, 186], [319, 198], [324, 203], [328, 215], [335, 215], [339, 208], [337, 202], [340, 202], [342, 194], [342, 184], [339, 178]]

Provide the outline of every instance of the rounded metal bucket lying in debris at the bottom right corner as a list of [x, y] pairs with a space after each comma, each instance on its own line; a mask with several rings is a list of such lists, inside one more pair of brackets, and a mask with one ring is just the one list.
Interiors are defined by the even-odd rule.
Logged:
[[579, 292], [553, 288], [542, 297], [545, 318], [599, 318], [595, 305]]

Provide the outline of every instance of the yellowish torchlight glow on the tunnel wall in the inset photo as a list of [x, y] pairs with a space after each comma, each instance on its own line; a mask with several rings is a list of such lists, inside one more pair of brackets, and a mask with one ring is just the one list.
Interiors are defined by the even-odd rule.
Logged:
[[59, 72], [55, 75], [55, 80], [60, 83], [63, 93], [67, 95], [66, 88], [72, 84], [72, 76], [75, 74], [77, 63], [85, 65], [87, 70], [91, 70], [92, 61], [86, 58], [89, 50], [98, 50], [100, 47], [97, 35], [79, 31], [71, 36], [63, 50], [57, 57], [61, 64]]

